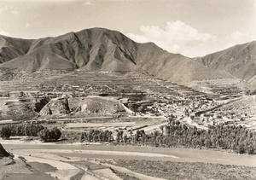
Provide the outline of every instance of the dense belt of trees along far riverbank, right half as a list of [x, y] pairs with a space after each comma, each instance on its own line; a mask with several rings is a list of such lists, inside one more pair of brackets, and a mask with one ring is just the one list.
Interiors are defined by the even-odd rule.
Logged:
[[222, 148], [240, 154], [256, 154], [256, 133], [241, 125], [210, 125], [208, 130], [201, 130], [195, 126], [173, 123], [161, 130], [150, 134], [137, 131], [131, 135], [131, 142], [163, 147]]

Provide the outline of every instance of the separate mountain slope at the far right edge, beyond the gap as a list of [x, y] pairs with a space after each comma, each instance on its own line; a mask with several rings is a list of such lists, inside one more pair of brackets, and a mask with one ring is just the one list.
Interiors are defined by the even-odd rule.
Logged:
[[206, 67], [249, 80], [256, 75], [256, 41], [195, 58]]

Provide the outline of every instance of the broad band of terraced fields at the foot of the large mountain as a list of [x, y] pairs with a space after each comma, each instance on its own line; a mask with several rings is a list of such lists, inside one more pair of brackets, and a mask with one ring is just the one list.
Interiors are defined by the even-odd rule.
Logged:
[[[2, 78], [8, 76], [3, 75]], [[199, 91], [191, 88], [173, 84], [155, 78], [145, 72], [88, 72], [84, 70], [75, 72], [61, 71], [44, 71], [36, 73], [14, 72], [12, 78], [0, 81], [0, 90], [5, 91], [25, 91], [25, 90], [40, 90], [44, 86], [44, 90], [55, 90], [61, 85], [86, 87], [106, 87], [119, 92], [148, 92], [161, 96], [190, 96], [201, 95]]]

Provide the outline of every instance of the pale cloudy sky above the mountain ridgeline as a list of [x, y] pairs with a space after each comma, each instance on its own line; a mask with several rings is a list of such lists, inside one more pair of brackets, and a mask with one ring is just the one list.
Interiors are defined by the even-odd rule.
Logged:
[[0, 0], [0, 34], [55, 37], [103, 27], [189, 57], [256, 40], [256, 0]]

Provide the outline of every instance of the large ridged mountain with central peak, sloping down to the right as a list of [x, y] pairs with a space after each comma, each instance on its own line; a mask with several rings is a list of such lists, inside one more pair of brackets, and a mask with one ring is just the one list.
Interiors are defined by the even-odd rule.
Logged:
[[201, 78], [233, 78], [230, 73], [169, 53], [153, 43], [137, 44], [120, 32], [103, 28], [34, 40], [0, 36], [0, 49], [0, 67], [29, 72], [78, 68], [84, 71], [146, 70], [177, 83]]

